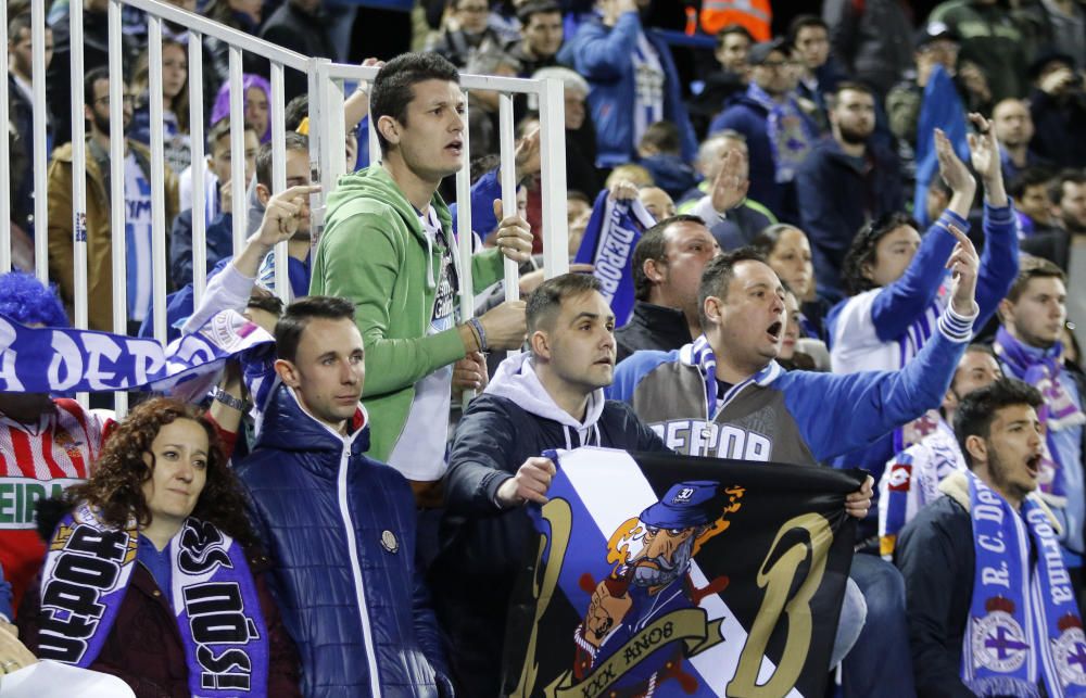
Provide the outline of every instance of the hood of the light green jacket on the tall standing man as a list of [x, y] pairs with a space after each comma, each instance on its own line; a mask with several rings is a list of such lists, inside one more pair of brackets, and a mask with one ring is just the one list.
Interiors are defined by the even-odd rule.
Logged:
[[[407, 196], [404, 195], [403, 190], [392, 179], [392, 175], [380, 164], [370, 165], [365, 169], [340, 177], [336, 189], [328, 194], [326, 210], [329, 212], [342, 211], [344, 212], [344, 216], [351, 216], [359, 211], [352, 206], [352, 203], [363, 201], [377, 202], [379, 205], [392, 208], [395, 215], [400, 216], [403, 220], [407, 229], [411, 230], [412, 236], [418, 240], [419, 244], [426, 248], [427, 257], [432, 257], [433, 242], [422, 230], [422, 224], [418, 220], [418, 212], [407, 201]], [[441, 194], [437, 191], [433, 192], [430, 205], [437, 212], [441, 227], [446, 231], [452, 230], [453, 218], [449, 213], [449, 206], [445, 205]], [[331, 223], [331, 220], [328, 221], [328, 224]], [[457, 262], [458, 259], [454, 254], [453, 264], [455, 265]], [[427, 284], [431, 289], [437, 288], [432, 262], [427, 265]]]

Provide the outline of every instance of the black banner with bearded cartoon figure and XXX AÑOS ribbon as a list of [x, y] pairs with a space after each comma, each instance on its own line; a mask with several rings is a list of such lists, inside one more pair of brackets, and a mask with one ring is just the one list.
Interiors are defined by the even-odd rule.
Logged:
[[503, 695], [821, 696], [858, 471], [578, 448], [554, 456]]

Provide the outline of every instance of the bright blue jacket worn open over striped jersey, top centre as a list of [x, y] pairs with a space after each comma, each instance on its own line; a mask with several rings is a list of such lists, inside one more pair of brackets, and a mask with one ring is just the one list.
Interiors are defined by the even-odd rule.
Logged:
[[[598, 17], [585, 22], [558, 52], [558, 61], [571, 65], [589, 81], [589, 106], [596, 126], [597, 167], [617, 167], [634, 161], [633, 142], [634, 69], [633, 49], [642, 30], [636, 12], [619, 16], [614, 27]], [[671, 49], [652, 29], [648, 42], [660, 56], [664, 67], [664, 117], [679, 128], [683, 161], [694, 162], [697, 138], [682, 101], [679, 73], [671, 60]]]

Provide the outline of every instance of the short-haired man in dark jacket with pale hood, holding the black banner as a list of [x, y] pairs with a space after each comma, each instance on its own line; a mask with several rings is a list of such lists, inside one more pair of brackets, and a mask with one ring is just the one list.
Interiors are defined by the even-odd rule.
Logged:
[[630, 407], [604, 399], [615, 370], [615, 316], [594, 277], [545, 281], [526, 313], [531, 352], [502, 363], [457, 427], [442, 553], [430, 571], [466, 696], [500, 695], [506, 615], [532, 542], [522, 505], [546, 502], [555, 472], [542, 453], [584, 445], [667, 450]]

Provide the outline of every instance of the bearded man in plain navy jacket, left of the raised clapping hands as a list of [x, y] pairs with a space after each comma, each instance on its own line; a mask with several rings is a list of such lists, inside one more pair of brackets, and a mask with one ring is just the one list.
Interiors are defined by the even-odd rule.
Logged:
[[811, 242], [819, 287], [841, 290], [841, 268], [857, 231], [904, 205], [900, 164], [871, 140], [875, 100], [859, 83], [843, 83], [830, 99], [832, 138], [819, 143], [796, 174], [799, 217]]

